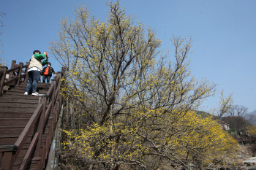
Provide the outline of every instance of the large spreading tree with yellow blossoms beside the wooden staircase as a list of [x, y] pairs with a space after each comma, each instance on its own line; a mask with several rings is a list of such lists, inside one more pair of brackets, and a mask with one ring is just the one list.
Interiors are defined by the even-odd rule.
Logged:
[[[127, 16], [118, 1], [109, 8], [101, 22], [78, 7], [76, 18], [62, 20], [59, 39], [50, 43], [68, 68], [63, 146], [72, 162], [83, 162], [84, 169], [233, 163], [236, 142], [211, 117], [195, 112], [215, 85], [190, 75], [192, 39], [174, 36], [173, 53], [162, 55], [151, 28]], [[223, 98], [219, 115], [230, 101]]]

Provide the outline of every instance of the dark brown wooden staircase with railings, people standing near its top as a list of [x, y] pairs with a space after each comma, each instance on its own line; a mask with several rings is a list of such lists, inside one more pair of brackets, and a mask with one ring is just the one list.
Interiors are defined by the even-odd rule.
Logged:
[[[0, 169], [45, 169], [62, 104], [64, 72], [58, 72], [50, 84], [39, 82], [39, 96], [25, 96], [28, 65], [14, 64], [13, 68], [19, 66], [17, 76], [12, 75], [16, 80], [1, 81], [0, 86], [1, 90], [4, 85], [10, 85], [8, 90], [1, 90], [0, 97]], [[1, 78], [8, 73], [8, 69], [5, 74], [3, 68], [0, 71]]]

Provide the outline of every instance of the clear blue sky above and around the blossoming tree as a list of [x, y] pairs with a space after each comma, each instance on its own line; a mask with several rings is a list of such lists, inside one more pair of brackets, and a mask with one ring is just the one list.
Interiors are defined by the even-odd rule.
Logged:
[[[26, 62], [33, 50], [49, 51], [56, 39], [61, 18], [73, 18], [75, 6], [82, 4], [104, 21], [105, 0], [0, 0], [1, 58]], [[170, 37], [192, 36], [189, 55], [192, 74], [217, 84], [217, 91], [233, 94], [234, 104], [252, 112], [256, 109], [256, 1], [255, 0], [120, 0], [128, 15], [155, 31], [162, 49], [170, 47]], [[49, 56], [51, 57], [51, 56]], [[60, 65], [49, 58], [53, 68]], [[217, 107], [219, 96], [205, 105]], [[206, 108], [207, 109], [207, 108]]]

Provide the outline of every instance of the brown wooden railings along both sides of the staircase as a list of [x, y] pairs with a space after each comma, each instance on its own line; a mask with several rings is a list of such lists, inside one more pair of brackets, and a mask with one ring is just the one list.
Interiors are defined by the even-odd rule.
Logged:
[[[15, 61], [12, 61], [11, 69], [1, 66], [0, 92], [2, 93], [4, 85], [20, 85], [20, 82], [27, 82], [28, 66], [28, 62], [26, 65], [23, 65], [23, 63], [16, 65]], [[23, 68], [25, 68], [24, 71]], [[28, 139], [29, 134], [33, 133], [33, 131], [34, 133], [29, 149], [26, 151], [26, 155], [23, 157], [18, 169], [27, 169], [28, 164], [31, 162], [36, 164], [36, 169], [45, 169], [45, 161], [48, 158], [50, 144], [53, 139], [53, 132], [56, 128], [56, 122], [61, 109], [61, 77], [65, 75], [65, 70], [66, 69], [62, 68], [61, 72], [57, 72], [56, 77], [53, 77], [50, 88], [46, 94], [39, 95], [37, 109], [35, 109], [15, 144], [0, 146], [0, 169], [12, 169], [16, 158], [18, 158], [18, 155], [20, 154], [20, 150], [23, 149], [23, 144]], [[16, 75], [14, 72], [16, 72]], [[4, 81], [7, 74], [9, 74], [9, 78]], [[48, 132], [45, 131], [46, 125], [49, 128]], [[42, 136], [46, 136], [45, 144], [42, 144]]]

